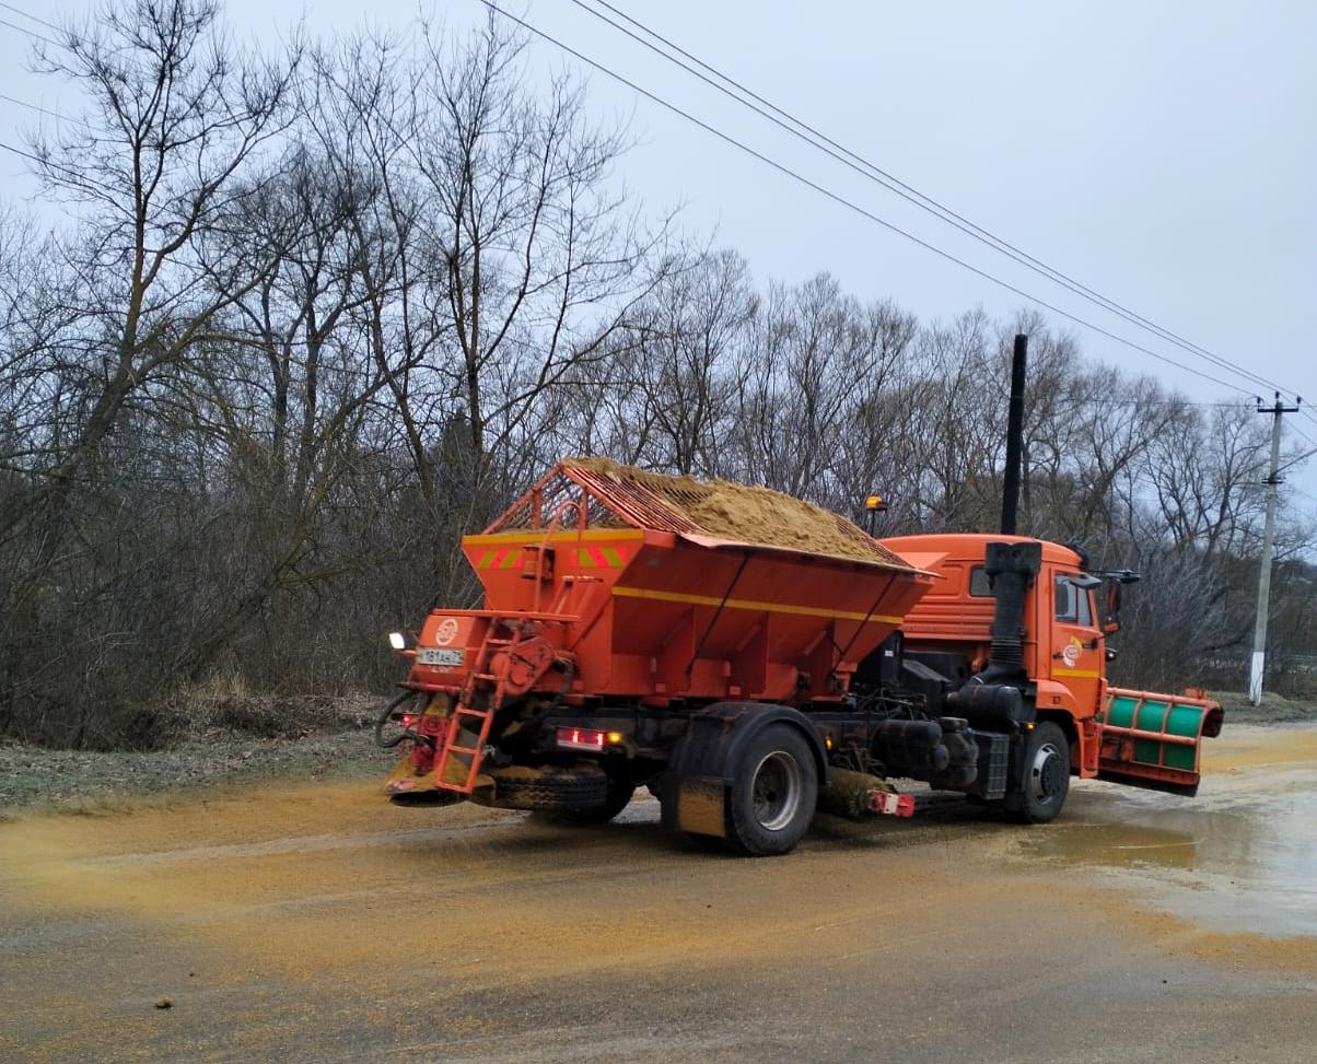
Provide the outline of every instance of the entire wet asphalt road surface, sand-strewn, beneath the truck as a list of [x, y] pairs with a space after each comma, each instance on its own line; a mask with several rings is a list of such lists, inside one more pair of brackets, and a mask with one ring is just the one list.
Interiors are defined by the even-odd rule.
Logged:
[[[4, 1061], [1313, 1061], [1317, 730], [744, 860], [373, 784], [0, 823]], [[167, 1006], [167, 1007], [161, 1007]]]

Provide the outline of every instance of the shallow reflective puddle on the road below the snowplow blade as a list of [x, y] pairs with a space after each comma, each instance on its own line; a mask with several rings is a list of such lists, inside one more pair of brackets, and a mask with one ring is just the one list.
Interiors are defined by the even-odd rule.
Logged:
[[1084, 784], [1019, 852], [1216, 931], [1317, 935], [1317, 766], [1287, 768], [1225, 768], [1197, 798]]

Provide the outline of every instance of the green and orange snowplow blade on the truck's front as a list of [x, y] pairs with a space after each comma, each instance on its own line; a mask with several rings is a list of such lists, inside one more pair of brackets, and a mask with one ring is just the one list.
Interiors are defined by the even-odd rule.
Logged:
[[1221, 733], [1218, 702], [1110, 689], [1101, 722], [1098, 780], [1193, 797], [1204, 739]]

